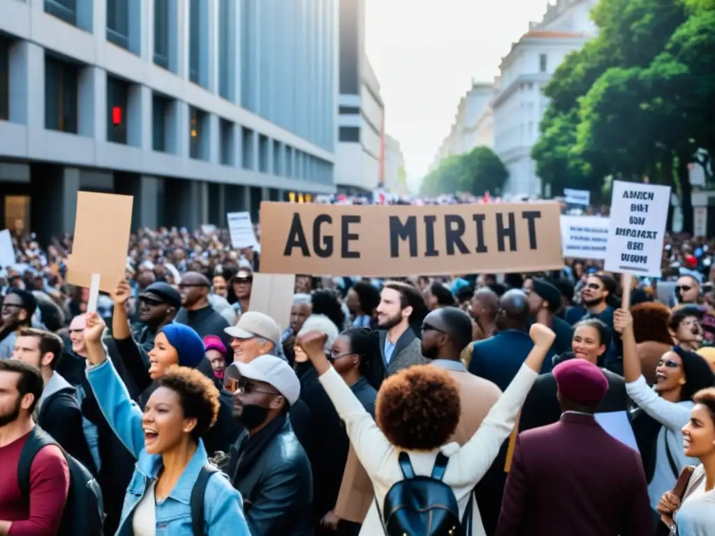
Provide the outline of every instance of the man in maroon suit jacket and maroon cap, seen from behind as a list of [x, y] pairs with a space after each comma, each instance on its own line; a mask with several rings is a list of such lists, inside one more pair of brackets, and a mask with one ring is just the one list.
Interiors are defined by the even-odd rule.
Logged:
[[603, 372], [571, 359], [553, 376], [563, 415], [518, 435], [497, 536], [651, 536], [641, 457], [593, 417], [608, 390]]

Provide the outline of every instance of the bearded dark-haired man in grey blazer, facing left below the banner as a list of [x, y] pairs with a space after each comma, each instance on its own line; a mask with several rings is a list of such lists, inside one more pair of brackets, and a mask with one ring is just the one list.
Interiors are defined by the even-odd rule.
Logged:
[[422, 307], [422, 294], [412, 285], [396, 281], [385, 283], [377, 309], [385, 376], [427, 362], [420, 339], [410, 328], [410, 317]]

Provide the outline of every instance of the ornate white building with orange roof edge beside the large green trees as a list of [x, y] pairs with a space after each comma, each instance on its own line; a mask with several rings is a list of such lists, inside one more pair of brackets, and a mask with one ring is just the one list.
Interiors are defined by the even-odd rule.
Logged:
[[529, 24], [529, 31], [501, 61], [491, 108], [494, 150], [509, 170], [506, 194], [541, 193], [531, 148], [548, 105], [542, 90], [566, 55], [596, 35], [588, 14], [597, 1], [549, 4], [542, 21]]

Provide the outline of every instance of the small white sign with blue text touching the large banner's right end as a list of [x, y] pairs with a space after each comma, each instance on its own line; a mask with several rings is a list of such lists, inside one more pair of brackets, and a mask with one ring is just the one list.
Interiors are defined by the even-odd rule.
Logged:
[[608, 218], [598, 216], [562, 216], [563, 256], [576, 259], [605, 259], [608, 222]]

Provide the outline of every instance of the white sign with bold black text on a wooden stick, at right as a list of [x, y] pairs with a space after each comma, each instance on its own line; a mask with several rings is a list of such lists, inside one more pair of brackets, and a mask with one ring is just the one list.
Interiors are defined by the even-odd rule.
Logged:
[[608, 272], [661, 277], [669, 204], [668, 186], [613, 181], [604, 263]]

